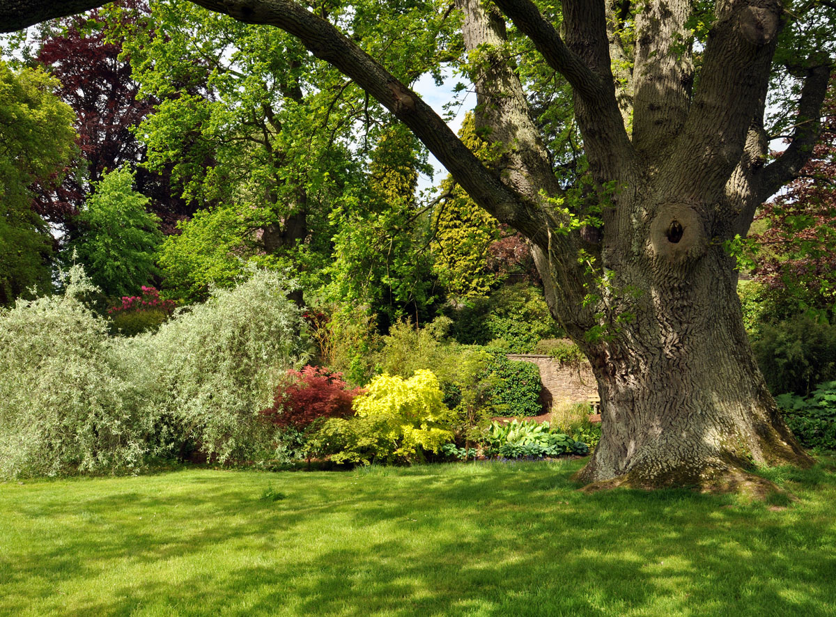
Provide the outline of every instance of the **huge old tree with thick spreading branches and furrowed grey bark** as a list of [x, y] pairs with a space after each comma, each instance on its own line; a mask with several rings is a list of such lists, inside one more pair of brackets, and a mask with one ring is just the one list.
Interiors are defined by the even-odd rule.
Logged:
[[[836, 54], [833, 3], [455, 0], [455, 13], [429, 2], [196, 3], [298, 37], [528, 238], [552, 314], [598, 381], [602, 438], [582, 480], [734, 487], [756, 481], [745, 472], [752, 462], [812, 462], [752, 358], [726, 247], [810, 156]], [[497, 149], [492, 167], [410, 89], [371, 20], [347, 17], [374, 14], [373, 4], [409, 14], [416, 31], [437, 18], [461, 26], [466, 54], [456, 64], [477, 94], [477, 128]], [[22, 6], [4, 6], [3, 28], [72, 10], [56, 0]], [[523, 50], [520, 39], [530, 42]], [[571, 101], [529, 93], [529, 64], [562, 75]], [[792, 143], [775, 160], [771, 84], [793, 86], [782, 108]], [[588, 170], [579, 174], [589, 177], [577, 199], [555, 173], [553, 132], [534, 103], [573, 109]]]

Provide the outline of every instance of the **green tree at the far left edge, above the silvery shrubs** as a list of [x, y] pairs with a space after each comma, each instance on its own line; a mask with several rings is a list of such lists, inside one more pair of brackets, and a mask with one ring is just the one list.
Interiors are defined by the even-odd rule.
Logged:
[[15, 74], [0, 60], [0, 306], [50, 287], [54, 241], [29, 187], [63, 171], [72, 153], [73, 110], [57, 87], [42, 70]]

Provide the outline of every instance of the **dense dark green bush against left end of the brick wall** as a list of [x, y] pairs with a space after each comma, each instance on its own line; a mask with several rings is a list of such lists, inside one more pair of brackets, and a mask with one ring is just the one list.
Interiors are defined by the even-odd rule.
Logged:
[[509, 360], [503, 349], [487, 349], [490, 359], [485, 378], [492, 380], [488, 394], [495, 416], [539, 416], [543, 413], [540, 371], [532, 362]]

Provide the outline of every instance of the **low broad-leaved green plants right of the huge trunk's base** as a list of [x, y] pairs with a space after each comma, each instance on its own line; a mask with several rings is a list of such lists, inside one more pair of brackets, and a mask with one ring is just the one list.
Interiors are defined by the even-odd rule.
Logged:
[[836, 381], [826, 381], [807, 397], [775, 397], [784, 420], [804, 447], [836, 450]]

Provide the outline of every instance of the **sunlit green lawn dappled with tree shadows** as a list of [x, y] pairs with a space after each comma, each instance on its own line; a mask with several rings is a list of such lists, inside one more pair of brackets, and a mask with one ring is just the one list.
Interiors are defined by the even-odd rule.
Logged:
[[581, 461], [4, 482], [0, 614], [836, 615], [833, 463], [784, 509]]

